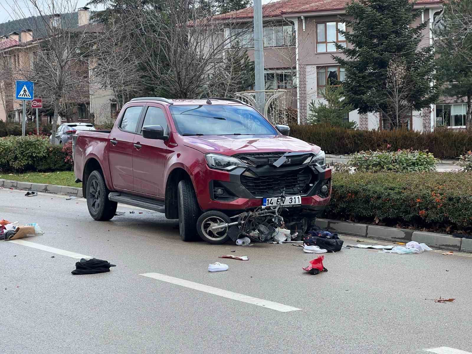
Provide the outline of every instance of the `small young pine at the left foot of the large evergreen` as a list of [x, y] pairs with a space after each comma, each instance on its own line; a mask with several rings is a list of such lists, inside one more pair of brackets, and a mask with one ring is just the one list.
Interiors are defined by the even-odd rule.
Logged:
[[321, 124], [327, 123], [331, 126], [339, 126], [343, 128], [357, 128], [356, 122], [346, 121], [346, 115], [353, 109], [343, 99], [343, 87], [326, 83], [325, 92], [321, 94], [328, 104], [321, 102], [316, 106], [315, 101], [311, 101], [308, 110], [308, 123]]

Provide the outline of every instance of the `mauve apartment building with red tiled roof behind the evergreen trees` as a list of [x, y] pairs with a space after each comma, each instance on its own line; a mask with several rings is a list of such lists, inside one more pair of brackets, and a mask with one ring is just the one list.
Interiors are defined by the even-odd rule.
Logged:
[[[421, 18], [412, 25], [418, 25], [420, 21], [429, 23], [420, 45], [433, 43], [432, 26], [440, 18], [442, 3], [442, 0], [416, 1], [414, 8], [421, 9]], [[293, 85], [301, 124], [307, 121], [310, 102], [319, 104], [323, 101], [321, 93], [327, 80], [342, 81], [345, 77], [344, 69], [332, 58], [337, 54], [333, 42], [349, 46], [338, 32], [345, 29], [341, 21], [343, 16], [346, 16], [346, 1], [342, 0], [281, 0], [262, 8], [266, 89], [290, 88]], [[253, 48], [253, 32], [250, 29], [253, 8], [216, 18], [245, 28], [242, 41], [247, 43], [248, 48]], [[253, 58], [253, 49], [249, 49], [248, 53]], [[430, 131], [442, 124], [461, 128], [464, 127], [465, 109], [463, 102], [443, 98], [421, 112], [411, 112], [405, 119], [405, 125], [417, 131]], [[357, 122], [361, 129], [387, 128], [386, 122], [373, 113], [360, 115], [354, 110], [346, 119]]]

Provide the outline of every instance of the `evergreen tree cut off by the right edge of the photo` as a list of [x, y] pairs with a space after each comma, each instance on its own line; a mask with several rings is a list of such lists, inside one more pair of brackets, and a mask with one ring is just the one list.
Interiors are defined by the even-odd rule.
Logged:
[[444, 96], [467, 99], [465, 126], [472, 129], [472, 35], [463, 19], [472, 16], [472, 0], [451, 0], [444, 5], [441, 22], [436, 25], [435, 37], [438, 73], [443, 82]]

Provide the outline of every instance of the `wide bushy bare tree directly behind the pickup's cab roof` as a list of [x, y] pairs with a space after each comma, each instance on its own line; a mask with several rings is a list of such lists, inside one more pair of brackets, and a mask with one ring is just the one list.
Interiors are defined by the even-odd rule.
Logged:
[[128, 9], [128, 20], [146, 84], [175, 98], [211, 92], [226, 51], [234, 50], [238, 40], [240, 46], [247, 41], [245, 28], [232, 31], [234, 23], [214, 18], [195, 0], [146, 2]]

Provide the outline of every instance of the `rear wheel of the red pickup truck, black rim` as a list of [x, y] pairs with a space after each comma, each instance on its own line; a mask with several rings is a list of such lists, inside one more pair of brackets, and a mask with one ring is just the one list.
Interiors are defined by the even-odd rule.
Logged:
[[87, 207], [90, 216], [99, 221], [110, 220], [117, 211], [117, 202], [108, 199], [110, 191], [100, 171], [93, 171], [87, 179]]

